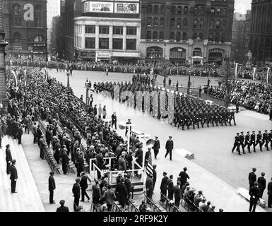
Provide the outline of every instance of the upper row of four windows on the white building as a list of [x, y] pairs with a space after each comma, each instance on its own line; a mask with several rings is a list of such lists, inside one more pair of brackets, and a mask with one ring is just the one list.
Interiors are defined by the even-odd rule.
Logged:
[[[95, 25], [85, 25], [86, 34], [95, 34]], [[100, 34], [110, 34], [110, 26], [99, 26]], [[123, 35], [123, 27], [113, 26], [113, 35]], [[137, 35], [136, 27], [126, 27], [126, 35]]]

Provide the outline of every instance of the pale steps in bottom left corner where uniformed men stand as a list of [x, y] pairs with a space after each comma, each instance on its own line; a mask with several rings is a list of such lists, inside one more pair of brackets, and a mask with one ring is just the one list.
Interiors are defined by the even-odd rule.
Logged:
[[[18, 181], [11, 194], [10, 175], [6, 174], [6, 145], [11, 145], [11, 155], [16, 159]], [[0, 212], [45, 212], [40, 194], [32, 177], [22, 145], [10, 136], [4, 136], [0, 149]]]

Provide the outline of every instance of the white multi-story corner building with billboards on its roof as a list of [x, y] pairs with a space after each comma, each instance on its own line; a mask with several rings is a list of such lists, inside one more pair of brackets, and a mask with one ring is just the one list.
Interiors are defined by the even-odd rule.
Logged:
[[136, 61], [141, 40], [139, 0], [83, 1], [75, 18], [76, 59]]

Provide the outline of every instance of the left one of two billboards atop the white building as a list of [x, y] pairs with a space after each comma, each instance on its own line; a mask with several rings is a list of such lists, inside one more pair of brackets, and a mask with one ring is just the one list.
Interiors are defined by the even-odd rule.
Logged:
[[84, 13], [113, 13], [113, 2], [109, 1], [86, 1]]

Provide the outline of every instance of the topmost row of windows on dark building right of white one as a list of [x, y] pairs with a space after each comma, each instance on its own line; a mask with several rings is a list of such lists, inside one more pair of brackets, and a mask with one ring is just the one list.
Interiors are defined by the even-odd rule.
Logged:
[[[206, 7], [205, 6], [195, 6], [194, 7], [194, 15], [205, 15]], [[164, 5], [148, 5], [148, 13], [165, 13]], [[171, 6], [172, 14], [188, 14], [189, 6], [175, 5]], [[227, 8], [211, 8], [211, 15], [216, 16], [226, 16]]]

